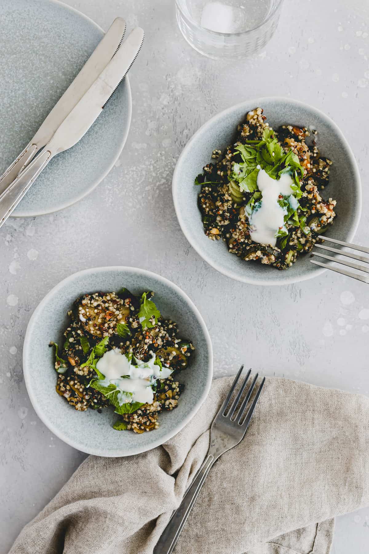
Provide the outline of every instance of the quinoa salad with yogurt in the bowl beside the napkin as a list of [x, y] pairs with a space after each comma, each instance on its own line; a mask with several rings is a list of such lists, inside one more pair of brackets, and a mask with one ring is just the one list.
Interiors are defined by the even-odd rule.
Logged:
[[113, 406], [116, 430], [157, 429], [160, 412], [173, 410], [184, 388], [175, 376], [187, 368], [194, 346], [163, 319], [153, 295], [124, 288], [85, 294], [67, 312], [63, 346], [49, 344], [56, 392], [79, 412]]

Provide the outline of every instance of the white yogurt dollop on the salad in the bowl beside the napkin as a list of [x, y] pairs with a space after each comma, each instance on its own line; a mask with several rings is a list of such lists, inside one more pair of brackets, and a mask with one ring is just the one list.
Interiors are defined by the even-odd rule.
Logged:
[[[137, 360], [134, 366], [117, 348], [105, 352], [98, 360], [96, 367], [102, 375], [105, 376], [102, 384], [115, 386], [122, 391], [121, 401], [123, 402], [142, 402], [151, 404], [154, 399], [152, 384], [157, 379], [169, 377], [171, 370], [155, 365], [155, 354], [148, 362]], [[123, 376], [128, 377], [123, 377]], [[125, 398], [124, 392], [132, 393], [132, 397]], [[119, 400], [120, 401], [120, 400]]]

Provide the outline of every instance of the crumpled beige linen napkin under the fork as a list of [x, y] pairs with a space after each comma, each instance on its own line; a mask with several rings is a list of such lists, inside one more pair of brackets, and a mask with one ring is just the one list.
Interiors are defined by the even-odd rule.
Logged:
[[[90, 456], [11, 554], [149, 554], [209, 446], [232, 378], [161, 447]], [[327, 554], [334, 520], [369, 504], [369, 398], [268, 378], [242, 442], [217, 461], [175, 554]]]

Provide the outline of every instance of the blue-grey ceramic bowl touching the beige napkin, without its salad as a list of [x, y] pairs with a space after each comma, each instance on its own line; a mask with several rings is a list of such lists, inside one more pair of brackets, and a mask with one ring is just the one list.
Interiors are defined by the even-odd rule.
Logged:
[[[101, 414], [76, 412], [55, 392], [56, 372], [50, 340], [61, 341], [66, 312], [81, 294], [118, 290], [122, 286], [139, 293], [153, 290], [164, 317], [178, 324], [180, 336], [190, 338], [196, 348], [188, 370], [179, 375], [185, 384], [178, 407], [160, 414], [160, 427], [149, 433], [116, 431], [113, 408]], [[24, 339], [23, 372], [35, 411], [61, 440], [87, 454], [128, 456], [145, 452], [165, 442], [184, 427], [204, 402], [212, 378], [212, 347], [198, 309], [181, 289], [160, 275], [127, 267], [94, 268], [80, 271], [54, 287], [35, 309]]]

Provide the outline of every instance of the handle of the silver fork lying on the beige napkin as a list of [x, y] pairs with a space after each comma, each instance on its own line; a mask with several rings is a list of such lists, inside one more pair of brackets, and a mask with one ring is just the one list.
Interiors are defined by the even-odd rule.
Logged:
[[187, 489], [183, 500], [175, 512], [173, 512], [167, 527], [165, 527], [162, 536], [160, 536], [159, 541], [154, 548], [153, 554], [171, 554], [171, 552], [173, 552], [180, 532], [183, 529], [186, 519], [195, 504], [195, 500], [198, 497], [200, 489], [204, 484], [206, 476], [215, 460], [216, 458], [209, 454], [204, 463], [201, 465], [198, 473], [196, 473], [193, 483]]

